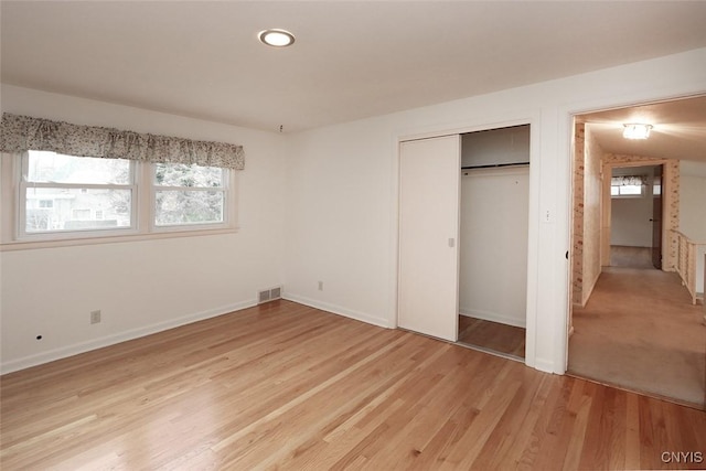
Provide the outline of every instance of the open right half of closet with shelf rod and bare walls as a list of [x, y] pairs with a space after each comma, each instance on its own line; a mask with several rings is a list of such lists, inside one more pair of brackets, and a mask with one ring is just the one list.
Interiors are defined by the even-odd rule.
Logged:
[[525, 356], [530, 125], [461, 135], [458, 342]]

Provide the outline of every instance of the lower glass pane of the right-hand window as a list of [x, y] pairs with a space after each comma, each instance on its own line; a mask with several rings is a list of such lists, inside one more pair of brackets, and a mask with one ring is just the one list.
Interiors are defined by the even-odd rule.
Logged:
[[158, 226], [224, 222], [222, 191], [163, 190], [158, 191], [156, 197], [154, 224]]

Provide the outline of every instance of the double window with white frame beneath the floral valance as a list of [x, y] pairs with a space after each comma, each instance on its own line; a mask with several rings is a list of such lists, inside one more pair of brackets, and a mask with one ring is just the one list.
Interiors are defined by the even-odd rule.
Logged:
[[46, 151], [28, 151], [17, 162], [18, 224], [3, 242], [234, 227], [228, 169]]

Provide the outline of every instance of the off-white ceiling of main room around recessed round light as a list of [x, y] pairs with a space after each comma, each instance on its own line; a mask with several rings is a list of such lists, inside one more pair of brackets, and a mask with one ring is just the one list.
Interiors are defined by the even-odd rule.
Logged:
[[[10, 1], [2, 82], [276, 131], [706, 46], [704, 1]], [[257, 33], [290, 30], [266, 47]]]

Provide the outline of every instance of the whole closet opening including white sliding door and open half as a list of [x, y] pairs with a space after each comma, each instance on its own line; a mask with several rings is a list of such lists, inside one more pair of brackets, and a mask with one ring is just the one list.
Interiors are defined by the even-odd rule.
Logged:
[[402, 141], [399, 188], [398, 327], [523, 361], [530, 125]]

